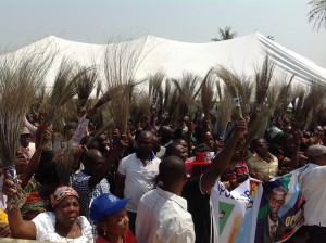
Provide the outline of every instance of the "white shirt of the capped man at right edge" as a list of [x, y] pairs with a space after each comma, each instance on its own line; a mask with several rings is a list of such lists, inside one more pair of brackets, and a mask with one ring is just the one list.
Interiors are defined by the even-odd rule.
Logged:
[[326, 227], [326, 166], [309, 164], [302, 172], [301, 189], [306, 201], [304, 225]]

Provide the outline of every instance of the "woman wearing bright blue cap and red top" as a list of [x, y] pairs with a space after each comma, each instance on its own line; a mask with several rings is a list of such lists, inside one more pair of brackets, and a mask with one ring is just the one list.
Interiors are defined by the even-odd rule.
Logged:
[[96, 243], [137, 243], [129, 229], [125, 206], [128, 199], [120, 200], [111, 193], [96, 197], [90, 206], [90, 218], [97, 223]]

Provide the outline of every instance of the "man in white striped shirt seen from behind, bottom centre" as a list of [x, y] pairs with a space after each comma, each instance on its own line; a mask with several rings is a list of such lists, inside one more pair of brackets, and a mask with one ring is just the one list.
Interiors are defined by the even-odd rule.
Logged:
[[181, 191], [187, 181], [183, 159], [164, 158], [159, 167], [159, 187], [140, 200], [136, 219], [139, 243], [195, 242], [193, 222]]

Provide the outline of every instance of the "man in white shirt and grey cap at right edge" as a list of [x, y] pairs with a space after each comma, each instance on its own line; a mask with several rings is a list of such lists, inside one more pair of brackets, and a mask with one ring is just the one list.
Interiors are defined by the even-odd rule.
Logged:
[[326, 235], [326, 148], [312, 145], [306, 155], [312, 164], [302, 172], [301, 189], [305, 199], [304, 218], [308, 242], [325, 242]]

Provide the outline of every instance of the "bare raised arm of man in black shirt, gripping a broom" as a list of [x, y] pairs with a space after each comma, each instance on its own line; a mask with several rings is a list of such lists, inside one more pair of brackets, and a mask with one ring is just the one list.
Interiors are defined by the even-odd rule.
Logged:
[[237, 142], [247, 132], [247, 123], [241, 118], [235, 123], [235, 130], [224, 149], [214, 157], [211, 166], [202, 174], [201, 191], [209, 191], [231, 161]]

